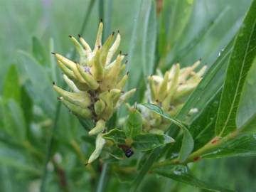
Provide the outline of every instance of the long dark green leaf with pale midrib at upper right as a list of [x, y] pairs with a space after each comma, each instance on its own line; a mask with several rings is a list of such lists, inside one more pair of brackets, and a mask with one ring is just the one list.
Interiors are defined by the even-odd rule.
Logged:
[[242, 87], [256, 54], [255, 9], [256, 1], [252, 1], [236, 36], [233, 53], [231, 53], [229, 60], [215, 129], [216, 134], [219, 136], [225, 136], [236, 129], [235, 117]]

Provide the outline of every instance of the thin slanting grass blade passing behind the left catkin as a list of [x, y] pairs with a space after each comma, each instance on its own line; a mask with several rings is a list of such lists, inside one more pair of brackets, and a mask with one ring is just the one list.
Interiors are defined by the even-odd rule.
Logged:
[[[82, 27], [80, 29], [80, 34], [81, 35], [85, 31], [85, 27], [87, 25], [87, 21], [90, 17], [90, 14], [92, 12], [92, 7], [93, 7], [94, 4], [95, 4], [95, 1], [91, 0], [89, 6], [87, 8], [85, 18], [84, 18], [83, 23], [82, 23]], [[75, 50], [73, 50], [73, 54], [72, 54], [71, 58], [75, 58]], [[53, 151], [54, 134], [55, 134], [56, 129], [58, 127], [58, 119], [60, 117], [60, 108], [61, 108], [61, 102], [58, 102], [58, 104], [56, 106], [56, 110], [55, 110], [55, 118], [54, 118], [54, 123], [53, 123], [53, 129], [51, 130], [50, 141], [48, 142], [48, 146], [47, 146], [46, 161], [45, 161], [45, 164], [43, 166], [43, 176], [42, 176], [42, 182], [41, 182], [41, 187], [40, 187], [41, 192], [46, 191], [46, 178], [47, 178], [47, 175], [48, 175], [47, 165], [48, 165], [48, 162], [50, 161], [50, 156], [52, 155], [52, 151]]]

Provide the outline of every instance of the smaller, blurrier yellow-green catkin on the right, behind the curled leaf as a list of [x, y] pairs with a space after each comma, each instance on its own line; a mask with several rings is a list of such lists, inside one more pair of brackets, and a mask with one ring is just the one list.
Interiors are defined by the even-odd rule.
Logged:
[[[146, 100], [161, 106], [164, 112], [175, 116], [206, 72], [205, 65], [197, 72], [195, 71], [200, 64], [201, 60], [198, 60], [189, 67], [180, 68], [179, 63], [176, 63], [164, 75], [161, 74], [160, 70], [157, 70], [157, 75], [151, 75], [148, 78], [149, 92], [146, 93]], [[168, 122], [159, 114], [143, 108], [142, 114], [144, 116], [144, 130], [163, 133], [168, 127]]]

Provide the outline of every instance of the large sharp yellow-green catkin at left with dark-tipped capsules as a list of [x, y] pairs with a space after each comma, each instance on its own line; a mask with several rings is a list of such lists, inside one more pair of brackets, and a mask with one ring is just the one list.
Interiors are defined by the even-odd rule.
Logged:
[[[125, 55], [121, 52], [117, 53], [121, 41], [119, 31], [115, 38], [113, 32], [107, 41], [102, 43], [102, 30], [101, 21], [94, 48], [90, 48], [80, 35], [78, 40], [69, 36], [79, 53], [79, 62], [53, 53], [63, 72], [63, 79], [71, 91], [63, 90], [55, 84], [53, 88], [60, 95], [58, 99], [73, 114], [83, 119], [95, 120], [95, 127], [89, 132], [90, 135], [101, 134], [106, 129], [105, 124], [114, 111], [135, 92], [134, 89], [128, 92], [122, 91], [127, 82], [128, 73], [123, 74], [125, 65], [122, 60]], [[113, 59], [114, 55], [117, 55], [116, 59]], [[90, 157], [90, 163], [97, 159], [105, 143], [102, 137], [97, 138], [97, 150]]]

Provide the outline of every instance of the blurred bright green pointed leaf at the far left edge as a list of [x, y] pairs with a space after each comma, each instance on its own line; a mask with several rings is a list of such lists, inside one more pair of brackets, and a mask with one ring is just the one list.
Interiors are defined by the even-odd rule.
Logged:
[[14, 99], [16, 102], [21, 102], [21, 87], [18, 82], [18, 72], [15, 65], [9, 67], [4, 82], [3, 98], [5, 100]]

